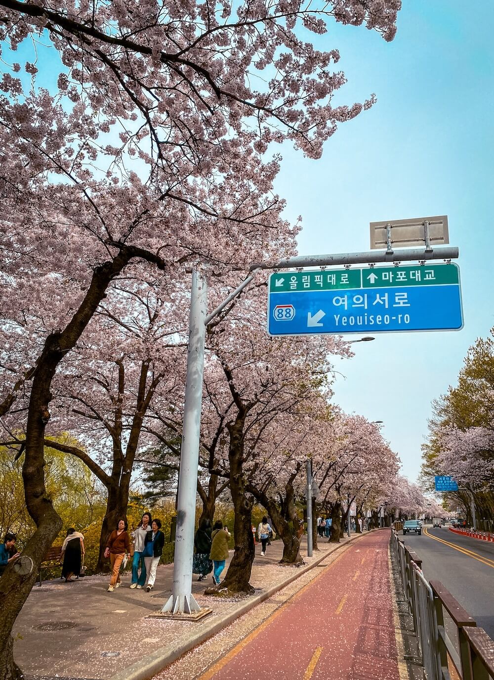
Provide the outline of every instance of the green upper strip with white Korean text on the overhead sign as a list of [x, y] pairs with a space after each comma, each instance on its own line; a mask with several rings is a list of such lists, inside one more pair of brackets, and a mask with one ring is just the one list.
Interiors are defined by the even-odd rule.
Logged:
[[457, 265], [289, 271], [270, 275], [269, 292], [459, 285]]

